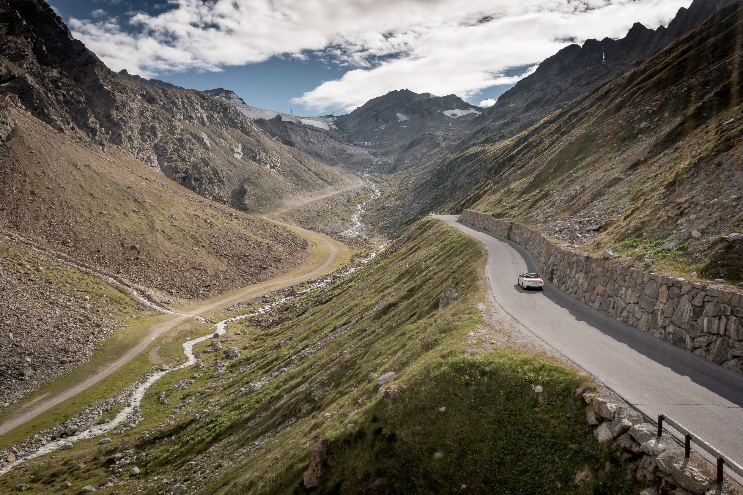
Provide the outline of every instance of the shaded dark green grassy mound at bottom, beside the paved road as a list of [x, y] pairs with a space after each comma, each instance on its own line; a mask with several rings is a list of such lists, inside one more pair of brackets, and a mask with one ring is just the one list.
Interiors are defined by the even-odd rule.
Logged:
[[[629, 494], [619, 457], [585, 427], [584, 386], [576, 372], [521, 352], [429, 361], [399, 398], [328, 435], [317, 493]], [[285, 475], [296, 492], [304, 467]], [[576, 473], [586, 467], [598, 475], [581, 489]]]

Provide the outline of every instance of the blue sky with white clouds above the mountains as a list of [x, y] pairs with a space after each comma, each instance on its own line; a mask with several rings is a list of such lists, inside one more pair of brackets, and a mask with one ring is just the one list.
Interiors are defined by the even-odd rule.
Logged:
[[[294, 114], [395, 89], [493, 99], [560, 48], [667, 25], [690, 0], [51, 0], [114, 71]], [[489, 100], [490, 99], [490, 100]]]

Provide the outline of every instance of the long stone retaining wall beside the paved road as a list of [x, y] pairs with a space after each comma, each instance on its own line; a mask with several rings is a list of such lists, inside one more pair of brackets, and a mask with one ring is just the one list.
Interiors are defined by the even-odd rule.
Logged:
[[464, 210], [461, 221], [528, 250], [572, 297], [728, 369], [743, 369], [743, 294], [575, 253], [536, 230]]

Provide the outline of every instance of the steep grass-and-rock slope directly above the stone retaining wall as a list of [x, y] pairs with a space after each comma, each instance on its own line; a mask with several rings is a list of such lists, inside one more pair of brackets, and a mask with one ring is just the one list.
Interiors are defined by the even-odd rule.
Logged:
[[409, 194], [743, 281], [740, 240], [728, 235], [743, 230], [742, 19], [740, 3], [719, 9], [527, 131], [447, 156]]

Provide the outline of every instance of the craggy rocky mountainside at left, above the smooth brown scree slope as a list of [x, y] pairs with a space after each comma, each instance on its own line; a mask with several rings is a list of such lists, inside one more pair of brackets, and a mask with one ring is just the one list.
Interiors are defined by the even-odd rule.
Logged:
[[118, 146], [185, 187], [247, 211], [343, 175], [262, 135], [200, 91], [112, 73], [42, 0], [0, 3], [0, 96], [84, 146]]

